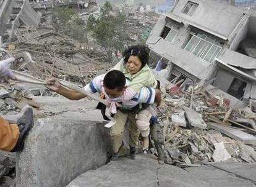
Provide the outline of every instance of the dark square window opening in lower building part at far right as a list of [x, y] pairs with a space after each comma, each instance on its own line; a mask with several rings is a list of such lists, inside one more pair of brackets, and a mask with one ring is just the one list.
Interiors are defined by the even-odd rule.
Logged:
[[238, 99], [241, 99], [244, 96], [246, 84], [247, 84], [246, 82], [241, 81], [240, 79], [234, 78], [227, 93]]

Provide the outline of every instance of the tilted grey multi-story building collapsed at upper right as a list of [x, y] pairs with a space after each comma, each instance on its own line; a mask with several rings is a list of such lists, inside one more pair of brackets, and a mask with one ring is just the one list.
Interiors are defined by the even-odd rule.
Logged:
[[176, 1], [161, 15], [147, 44], [165, 78], [185, 87], [208, 83], [231, 105], [256, 99], [256, 9], [223, 1]]

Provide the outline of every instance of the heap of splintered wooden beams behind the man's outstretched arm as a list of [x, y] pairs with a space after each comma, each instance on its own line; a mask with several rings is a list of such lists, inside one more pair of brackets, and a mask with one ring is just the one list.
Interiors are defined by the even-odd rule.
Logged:
[[14, 49], [15, 70], [40, 79], [56, 76], [85, 85], [99, 70], [111, 66], [106, 55], [47, 28], [20, 29], [17, 41], [9, 43], [7, 49]]

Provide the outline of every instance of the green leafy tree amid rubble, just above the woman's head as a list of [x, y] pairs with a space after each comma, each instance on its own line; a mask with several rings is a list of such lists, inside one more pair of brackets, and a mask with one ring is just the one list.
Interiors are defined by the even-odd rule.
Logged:
[[[124, 30], [124, 14], [113, 14], [113, 7], [109, 1], [100, 9], [100, 16], [90, 15], [87, 22], [88, 30], [92, 31], [98, 43], [107, 50], [122, 50], [129, 34]], [[109, 52], [111, 54], [111, 52]]]

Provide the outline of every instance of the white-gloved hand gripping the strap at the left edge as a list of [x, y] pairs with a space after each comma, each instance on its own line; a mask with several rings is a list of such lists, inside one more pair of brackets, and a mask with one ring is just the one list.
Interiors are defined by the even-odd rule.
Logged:
[[6, 60], [0, 61], [0, 82], [7, 81], [9, 79], [15, 80], [15, 76], [10, 70], [12, 63], [15, 58], [7, 58]]

